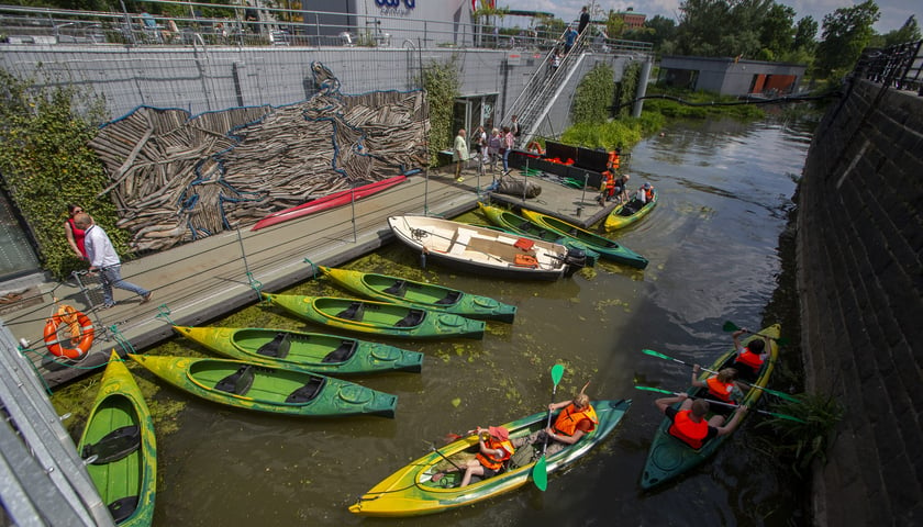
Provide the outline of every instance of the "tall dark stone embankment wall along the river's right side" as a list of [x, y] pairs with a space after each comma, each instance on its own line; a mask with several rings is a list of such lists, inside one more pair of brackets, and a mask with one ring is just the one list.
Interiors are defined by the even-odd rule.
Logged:
[[815, 525], [923, 524], [923, 98], [856, 81], [824, 117], [798, 215], [809, 391], [846, 408]]

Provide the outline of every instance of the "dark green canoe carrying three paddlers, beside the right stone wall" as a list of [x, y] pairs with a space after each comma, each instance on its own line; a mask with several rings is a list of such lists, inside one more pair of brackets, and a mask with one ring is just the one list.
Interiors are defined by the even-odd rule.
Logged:
[[[779, 355], [779, 347], [775, 341], [776, 338], [779, 338], [779, 330], [780, 326], [776, 324], [759, 332], [763, 335], [771, 337], [771, 346], [769, 347], [769, 358], [766, 362], [764, 362], [759, 375], [753, 383], [754, 385], [766, 388], [766, 384], [769, 382], [769, 375], [772, 373], [772, 368], [775, 368], [776, 359]], [[763, 337], [754, 335], [745, 339], [744, 343], [748, 343], [753, 338]], [[731, 366], [731, 363], [734, 362], [736, 350], [732, 348], [730, 351], [715, 360], [714, 365], [709, 367], [709, 369], [719, 371], [726, 366]], [[703, 371], [700, 379], [705, 380], [710, 374], [711, 373]], [[702, 389], [692, 386], [689, 389], [688, 393], [692, 396], [700, 396], [702, 395], [702, 393], [700, 393], [701, 390]], [[741, 401], [741, 404], [746, 404], [748, 407], [753, 407], [753, 405], [759, 400], [760, 395], [763, 395], [763, 390], [752, 388], [747, 391], [744, 400]], [[674, 407], [678, 408], [679, 403], [674, 405]], [[711, 414], [709, 414], [707, 418], [710, 417]], [[730, 421], [732, 417], [733, 413], [727, 416], [727, 419]], [[725, 436], [716, 436], [710, 439], [704, 446], [702, 446], [702, 448], [694, 450], [687, 444], [669, 435], [667, 431], [669, 427], [670, 421], [665, 417], [661, 421], [660, 426], [657, 428], [657, 433], [654, 435], [654, 441], [650, 444], [650, 450], [647, 452], [647, 462], [644, 466], [644, 472], [641, 478], [641, 486], [643, 489], [653, 489], [655, 486], [663, 485], [664, 483], [675, 480], [689, 470], [698, 467], [711, 457], [725, 440], [730, 439], [734, 435], [727, 434]]]

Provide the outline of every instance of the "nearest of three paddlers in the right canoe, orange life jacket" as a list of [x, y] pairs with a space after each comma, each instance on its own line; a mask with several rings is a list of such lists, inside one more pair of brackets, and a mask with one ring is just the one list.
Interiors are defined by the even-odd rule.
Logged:
[[[682, 404], [680, 404], [679, 410], [674, 408], [672, 405], [680, 401]], [[654, 401], [654, 404], [672, 423], [667, 430], [669, 435], [697, 450], [713, 437], [725, 436], [734, 431], [747, 413], [746, 405], [741, 405], [734, 417], [726, 423], [723, 415], [714, 415], [705, 421], [710, 410], [709, 402], [702, 399], [693, 401], [689, 399], [687, 393], [680, 393], [672, 397], [661, 397]]]

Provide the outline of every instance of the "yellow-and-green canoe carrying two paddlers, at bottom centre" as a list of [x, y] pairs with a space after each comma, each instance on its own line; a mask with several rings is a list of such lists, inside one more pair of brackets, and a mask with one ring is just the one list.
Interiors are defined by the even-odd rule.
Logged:
[[[567, 467], [599, 445], [622, 421], [632, 402], [593, 401], [591, 404], [597, 411], [599, 425], [575, 445], [548, 456], [545, 460], [546, 472]], [[502, 426], [510, 431], [510, 438], [515, 440], [545, 428], [547, 417], [548, 413], [545, 411]], [[362, 516], [421, 516], [471, 505], [527, 484], [532, 481], [535, 462], [542, 455], [541, 444], [520, 447], [499, 474], [464, 487], [455, 486], [460, 480], [459, 472], [448, 472], [438, 482], [432, 481], [433, 474], [448, 464], [445, 458], [452, 459], [453, 455], [460, 452], [474, 453], [477, 448], [477, 436], [469, 436], [446, 445], [438, 451], [432, 451], [363, 494], [349, 506], [349, 512]], [[524, 449], [527, 450], [523, 451]], [[516, 464], [516, 461], [521, 464]]]

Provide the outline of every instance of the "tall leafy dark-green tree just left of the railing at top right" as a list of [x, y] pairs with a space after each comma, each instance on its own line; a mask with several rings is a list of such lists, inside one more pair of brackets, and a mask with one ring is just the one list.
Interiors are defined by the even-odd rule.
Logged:
[[822, 41], [814, 67], [820, 77], [839, 77], [850, 69], [875, 35], [872, 24], [881, 13], [875, 0], [839, 8], [824, 15]]

